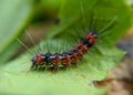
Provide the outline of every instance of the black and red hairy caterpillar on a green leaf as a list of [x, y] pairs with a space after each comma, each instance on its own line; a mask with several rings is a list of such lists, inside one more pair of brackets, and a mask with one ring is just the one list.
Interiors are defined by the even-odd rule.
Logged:
[[89, 32], [84, 39], [82, 39], [76, 46], [72, 50], [63, 53], [38, 53], [34, 57], [32, 57], [32, 66], [33, 67], [43, 67], [43, 68], [52, 68], [54, 71], [59, 70], [59, 67], [68, 68], [71, 65], [78, 63], [78, 61], [83, 59], [83, 55], [89, 52], [89, 49], [92, 48], [98, 41], [96, 32]]

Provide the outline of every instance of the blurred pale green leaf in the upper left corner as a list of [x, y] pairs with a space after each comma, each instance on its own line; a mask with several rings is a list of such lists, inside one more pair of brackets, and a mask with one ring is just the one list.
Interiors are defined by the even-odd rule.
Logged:
[[25, 30], [33, 13], [34, 0], [0, 1], [0, 63], [17, 51], [17, 39]]

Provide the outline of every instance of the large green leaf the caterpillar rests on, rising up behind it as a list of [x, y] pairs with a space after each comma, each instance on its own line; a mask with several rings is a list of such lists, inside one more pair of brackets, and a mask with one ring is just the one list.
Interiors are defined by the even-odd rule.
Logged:
[[[81, 6], [84, 10], [82, 10]], [[91, 14], [94, 14], [94, 18]], [[124, 55], [124, 52], [114, 46], [130, 27], [127, 10], [122, 0], [82, 0], [82, 4], [81, 1], [65, 0], [60, 12], [60, 24], [53, 32], [48, 34], [48, 42], [44, 40], [42, 46], [41, 44], [37, 45], [42, 49], [40, 51], [42, 53], [47, 53], [48, 49], [52, 52], [70, 50], [72, 49], [71, 44], [75, 45], [76, 43], [72, 41], [73, 35], [79, 39], [79, 34], [86, 33], [86, 31], [82, 30], [82, 24], [88, 28], [91, 20], [98, 19], [96, 32], [99, 32], [114, 17], [117, 17], [115, 25], [108, 30], [104, 36], [99, 38], [95, 46], [90, 49], [89, 54], [84, 56], [83, 61], [79, 62], [78, 67], [74, 66], [57, 73], [49, 71], [27, 72], [32, 64], [30, 60], [33, 55], [24, 54], [1, 67], [0, 93], [103, 95], [105, 89], [95, 88], [93, 81], [104, 80], [109, 70], [116, 66]], [[80, 32], [76, 32], [74, 28]], [[93, 27], [88, 30], [92, 29]], [[57, 36], [59, 38], [57, 39]], [[60, 51], [57, 50], [57, 46]]]

